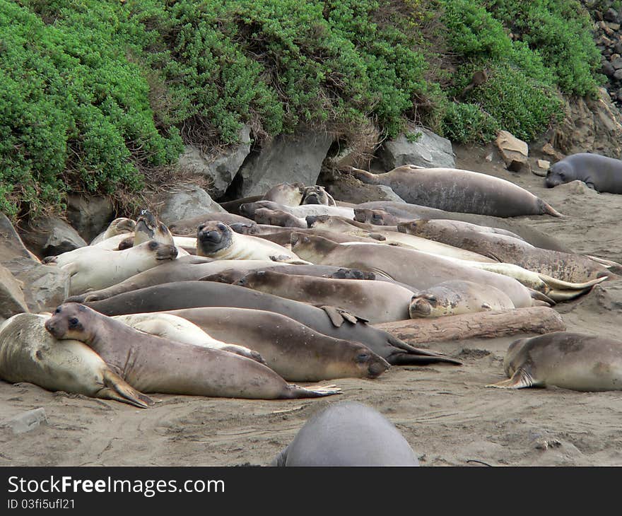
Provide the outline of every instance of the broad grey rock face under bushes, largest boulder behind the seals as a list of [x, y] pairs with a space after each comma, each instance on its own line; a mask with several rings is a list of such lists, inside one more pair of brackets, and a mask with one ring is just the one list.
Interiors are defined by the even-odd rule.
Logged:
[[332, 141], [325, 133], [277, 136], [247, 158], [231, 185], [232, 199], [263, 195], [279, 183], [315, 184]]

